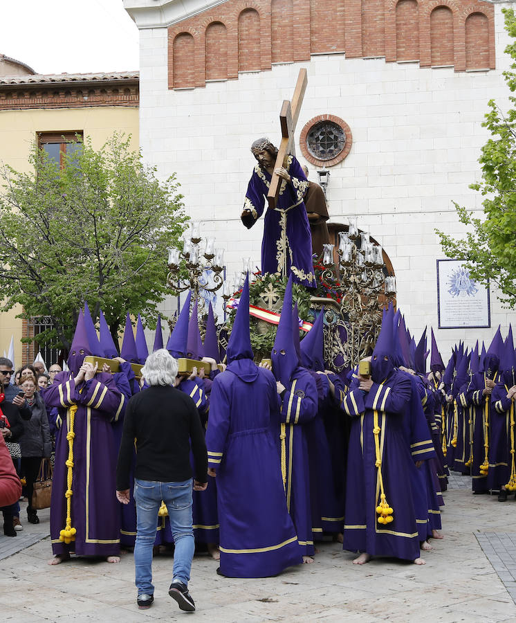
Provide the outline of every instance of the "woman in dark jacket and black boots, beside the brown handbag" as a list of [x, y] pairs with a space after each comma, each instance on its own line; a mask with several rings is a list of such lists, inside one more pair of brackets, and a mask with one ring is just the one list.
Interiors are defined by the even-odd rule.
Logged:
[[21, 389], [25, 392], [32, 417], [25, 422], [25, 432], [19, 438], [21, 448], [21, 469], [25, 473], [27, 491], [27, 518], [30, 523], [39, 523], [37, 511], [32, 507], [34, 481], [37, 478], [42, 458], [50, 457], [52, 449], [48, 418], [42, 397], [36, 391], [36, 383], [30, 374], [21, 375]]

